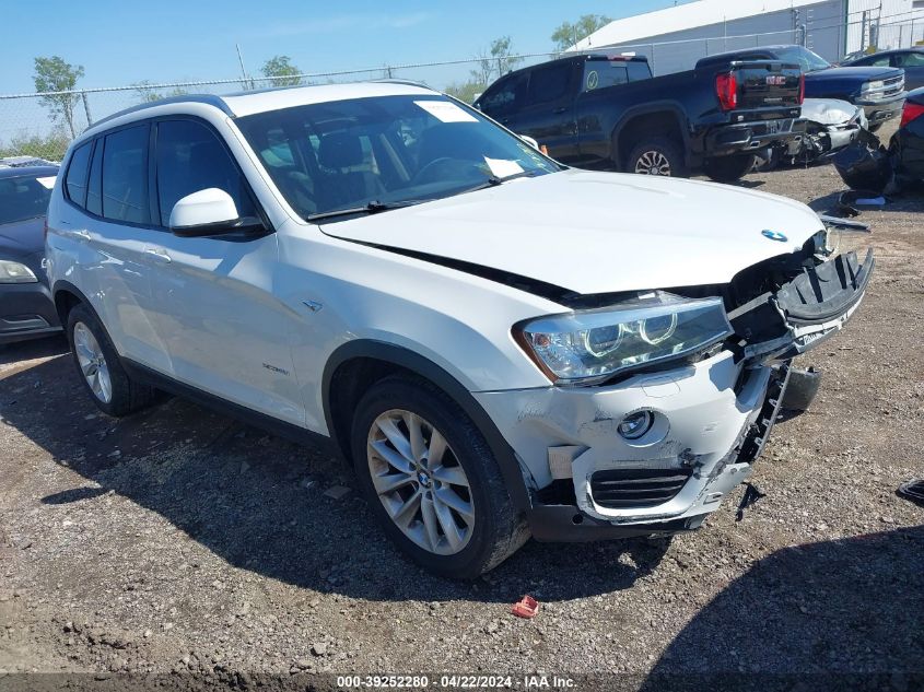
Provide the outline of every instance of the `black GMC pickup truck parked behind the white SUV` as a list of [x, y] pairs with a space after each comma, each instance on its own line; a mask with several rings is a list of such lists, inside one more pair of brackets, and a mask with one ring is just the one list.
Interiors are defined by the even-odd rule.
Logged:
[[730, 181], [802, 136], [803, 93], [779, 60], [653, 78], [645, 58], [576, 55], [505, 74], [475, 105], [576, 167]]

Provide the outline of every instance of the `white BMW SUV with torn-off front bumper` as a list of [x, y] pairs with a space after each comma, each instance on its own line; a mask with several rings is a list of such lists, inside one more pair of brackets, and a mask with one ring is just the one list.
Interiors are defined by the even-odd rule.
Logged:
[[457, 577], [530, 535], [697, 528], [873, 268], [804, 204], [569, 169], [405, 83], [145, 104], [62, 171], [49, 274], [95, 403], [328, 441]]

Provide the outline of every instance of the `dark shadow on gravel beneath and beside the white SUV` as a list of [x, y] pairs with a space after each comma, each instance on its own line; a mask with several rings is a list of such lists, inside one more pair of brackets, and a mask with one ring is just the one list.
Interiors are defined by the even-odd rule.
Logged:
[[[159, 513], [235, 567], [317, 591], [371, 600], [511, 602], [525, 593], [546, 601], [573, 599], [631, 587], [668, 547], [645, 540], [530, 541], [486, 577], [457, 583], [405, 560], [355, 492], [340, 500], [325, 495], [332, 485], [352, 484], [329, 451], [178, 398], [126, 419], [107, 418], [93, 406], [69, 355], [0, 379], [0, 414], [57, 464], [92, 481], [49, 494], [43, 504], [93, 503], [113, 491]], [[120, 535], [117, 516], [100, 516], [98, 523], [100, 540], [137, 540]]]

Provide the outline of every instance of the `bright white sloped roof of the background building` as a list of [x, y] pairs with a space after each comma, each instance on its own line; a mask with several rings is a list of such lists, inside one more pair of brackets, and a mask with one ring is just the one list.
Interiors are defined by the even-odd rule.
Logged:
[[569, 50], [588, 50], [603, 46], [630, 44], [640, 38], [662, 36], [698, 26], [732, 22], [764, 12], [779, 12], [819, 0], [697, 0], [665, 10], [656, 10], [610, 22]]

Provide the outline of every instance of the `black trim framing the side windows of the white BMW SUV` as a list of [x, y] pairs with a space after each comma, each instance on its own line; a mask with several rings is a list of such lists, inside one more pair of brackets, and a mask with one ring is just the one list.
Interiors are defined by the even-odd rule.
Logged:
[[[157, 117], [153, 117], [153, 118], [140, 118], [138, 120], [132, 120], [131, 122], [126, 122], [126, 124], [120, 125], [118, 127], [114, 127], [114, 128], [104, 130], [102, 132], [97, 132], [92, 138], [89, 138], [85, 142], [80, 144], [80, 146], [83, 146], [84, 144], [91, 145], [90, 157], [86, 161], [86, 189], [84, 190], [84, 195], [83, 195], [83, 200], [84, 200], [84, 204], [85, 204], [86, 192], [89, 192], [89, 190], [90, 190], [90, 169], [91, 169], [91, 166], [93, 165], [93, 155], [94, 155], [94, 152], [96, 151], [96, 146], [103, 145], [102, 142], [106, 137], [108, 137], [109, 134], [113, 134], [115, 132], [118, 132], [120, 130], [127, 130], [129, 128], [139, 127], [139, 126], [142, 126], [142, 125], [148, 127], [148, 166], [147, 166], [147, 169], [145, 169], [144, 173], [145, 173], [145, 176], [147, 176], [148, 209], [149, 209], [150, 223], [137, 223], [134, 221], [118, 221], [116, 219], [107, 219], [106, 216], [91, 212], [89, 209], [86, 209], [85, 206], [81, 207], [80, 204], [78, 204], [77, 202], [71, 200], [70, 196], [68, 195], [68, 189], [67, 189], [67, 187], [68, 187], [67, 186], [67, 176], [68, 176], [68, 172], [70, 171], [71, 162], [73, 160], [73, 152], [75, 152], [78, 149], [80, 149], [80, 146], [75, 146], [74, 150], [71, 152], [71, 155], [68, 159], [67, 168], [65, 169], [65, 181], [63, 181], [63, 186], [62, 186], [62, 189], [63, 189], [62, 197], [65, 199], [65, 202], [70, 204], [71, 207], [73, 207], [74, 209], [80, 211], [81, 213], [86, 214], [91, 219], [95, 219], [95, 220], [102, 221], [104, 223], [112, 223], [112, 224], [121, 225], [121, 226], [130, 226], [132, 228], [143, 228], [145, 231], [157, 231], [160, 233], [172, 233], [172, 231], [167, 226], [162, 226], [160, 224], [160, 220], [161, 220], [160, 199], [157, 198], [157, 195], [155, 193], [156, 192], [156, 163], [155, 163], [155, 157], [156, 157], [156, 149], [155, 149], [156, 127], [155, 126], [156, 126], [157, 122], [161, 122], [163, 120], [184, 120], [184, 119], [185, 120], [195, 120], [197, 122], [204, 125], [206, 128], [208, 128], [219, 139], [219, 141], [221, 142], [221, 145], [224, 148], [225, 152], [231, 157], [232, 163], [234, 164], [235, 168], [241, 174], [241, 177], [244, 180], [245, 190], [250, 196], [252, 200], [254, 201], [254, 207], [257, 211], [257, 215], [259, 216], [260, 221], [262, 221], [264, 225], [267, 228], [266, 235], [269, 235], [270, 233], [276, 233], [276, 228], [273, 227], [272, 223], [270, 223], [269, 216], [267, 215], [266, 211], [264, 210], [264, 207], [260, 203], [259, 198], [254, 193], [254, 188], [250, 185], [250, 181], [247, 179], [247, 176], [244, 175], [244, 172], [241, 168], [241, 164], [237, 162], [237, 159], [231, 152], [231, 149], [227, 146], [227, 142], [225, 141], [225, 139], [214, 128], [214, 126], [211, 122], [209, 122], [208, 120], [206, 120], [204, 118], [202, 118], [200, 116], [194, 116], [194, 115], [185, 114], [185, 113], [176, 113], [176, 114], [157, 116]], [[103, 172], [101, 172], [101, 173], [103, 173]], [[102, 195], [102, 189], [100, 191], [101, 191], [101, 195]], [[154, 192], [154, 193], [152, 193], [152, 192]], [[156, 224], [154, 223], [155, 219], [157, 221]], [[220, 236], [220, 235], [201, 236], [201, 237], [206, 237], [206, 238], [211, 239], [211, 241], [236, 241], [236, 242], [241, 242], [241, 239], [242, 239], [237, 236], [235, 236], [235, 237], [223, 237], [223, 236]], [[245, 239], [246, 241], [255, 241], [258, 237], [261, 237], [261, 236], [257, 236], [257, 235], [247, 236]]]

